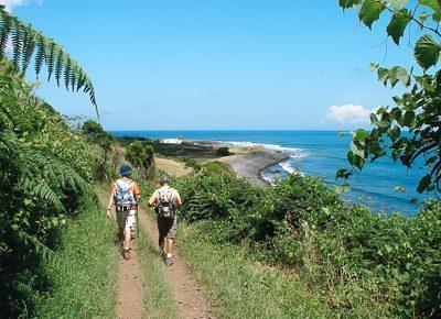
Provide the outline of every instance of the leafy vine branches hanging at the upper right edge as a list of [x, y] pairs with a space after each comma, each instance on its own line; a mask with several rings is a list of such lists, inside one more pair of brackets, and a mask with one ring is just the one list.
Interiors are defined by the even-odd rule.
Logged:
[[[417, 76], [413, 68], [408, 73], [400, 66], [391, 68], [373, 64], [378, 79], [391, 87], [401, 82], [408, 91], [394, 97], [396, 106], [381, 107], [370, 116], [374, 130], [358, 130], [353, 134], [349, 164], [362, 169], [367, 161], [389, 156], [407, 167], [422, 166], [427, 174], [420, 179], [417, 190], [441, 191], [441, 73], [437, 65], [441, 51], [441, 2], [439, 0], [340, 0], [344, 9], [359, 8], [363, 24], [372, 28], [384, 12], [389, 13], [387, 35], [399, 45], [406, 30], [408, 43], [413, 47], [417, 65], [423, 75]], [[386, 14], [386, 13], [385, 13]], [[412, 38], [411, 28], [419, 29], [418, 40]], [[417, 34], [417, 33], [415, 33]], [[337, 176], [347, 178], [352, 172], [338, 170]]]

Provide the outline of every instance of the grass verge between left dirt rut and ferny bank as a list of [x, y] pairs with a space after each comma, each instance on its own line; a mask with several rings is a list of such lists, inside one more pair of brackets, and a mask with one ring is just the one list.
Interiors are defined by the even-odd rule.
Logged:
[[68, 221], [54, 261], [44, 268], [51, 290], [35, 297], [35, 317], [116, 317], [118, 249], [115, 224], [104, 218], [104, 209], [86, 206]]

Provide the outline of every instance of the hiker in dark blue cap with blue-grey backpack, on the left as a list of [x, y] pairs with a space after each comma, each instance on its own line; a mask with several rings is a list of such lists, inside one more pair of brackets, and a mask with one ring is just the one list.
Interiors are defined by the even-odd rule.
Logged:
[[130, 240], [137, 222], [137, 202], [141, 199], [138, 184], [130, 179], [131, 168], [121, 165], [121, 178], [111, 184], [106, 216], [111, 217], [110, 207], [115, 204], [119, 240], [122, 241], [125, 260], [130, 260]]

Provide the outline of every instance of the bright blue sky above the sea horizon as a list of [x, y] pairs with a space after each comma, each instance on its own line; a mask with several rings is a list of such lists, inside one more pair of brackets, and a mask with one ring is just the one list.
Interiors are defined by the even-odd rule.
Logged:
[[[86, 70], [107, 130], [366, 127], [400, 90], [378, 82], [369, 63], [411, 63], [406, 44], [389, 40], [386, 51], [383, 22], [369, 31], [337, 0], [0, 3]], [[64, 114], [96, 119], [87, 95], [45, 81], [36, 94]]]

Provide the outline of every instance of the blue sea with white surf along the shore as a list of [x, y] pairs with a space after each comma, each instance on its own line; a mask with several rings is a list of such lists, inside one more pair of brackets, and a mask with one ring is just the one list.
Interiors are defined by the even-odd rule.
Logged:
[[[178, 138], [184, 140], [207, 140], [233, 142], [238, 145], [262, 144], [289, 155], [289, 160], [276, 164], [262, 173], [267, 180], [283, 178], [289, 173], [301, 173], [323, 177], [333, 187], [342, 184], [335, 180], [335, 172], [348, 166], [346, 152], [351, 134], [340, 131], [114, 131], [116, 136], [143, 136], [151, 139]], [[374, 211], [386, 213], [401, 212], [412, 216], [418, 212], [419, 204], [411, 199], [423, 200], [415, 189], [423, 176], [421, 169], [408, 170], [399, 163], [380, 158], [365, 166], [349, 179], [351, 190], [344, 195], [353, 202], [370, 205]], [[395, 190], [400, 186], [405, 191]]]

